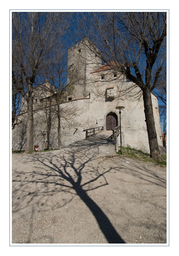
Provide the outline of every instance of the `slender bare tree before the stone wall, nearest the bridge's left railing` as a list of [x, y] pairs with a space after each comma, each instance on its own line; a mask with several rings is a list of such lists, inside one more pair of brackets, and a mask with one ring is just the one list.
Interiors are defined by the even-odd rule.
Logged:
[[[65, 48], [63, 45], [61, 42], [62, 49]], [[48, 79], [45, 90], [50, 95], [48, 98], [50, 103], [47, 121], [50, 124], [50, 116], [52, 112], [55, 113], [58, 120], [58, 149], [61, 149], [61, 118], [65, 119], [67, 124], [74, 125], [73, 118], [78, 115], [77, 111], [79, 111], [79, 109], [72, 105], [63, 105], [61, 103], [65, 102], [67, 96], [72, 94], [74, 85], [78, 82], [79, 78], [75, 69], [68, 69], [66, 50], [55, 51], [55, 59], [57, 61], [51, 61], [51, 65], [44, 70], [44, 76]], [[66, 79], [67, 73], [68, 79]], [[52, 108], [54, 104], [56, 107]]]

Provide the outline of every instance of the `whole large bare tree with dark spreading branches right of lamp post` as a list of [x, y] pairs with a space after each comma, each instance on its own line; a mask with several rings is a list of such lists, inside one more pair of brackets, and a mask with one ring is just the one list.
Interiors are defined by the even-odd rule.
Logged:
[[161, 161], [151, 92], [159, 85], [166, 69], [166, 12], [90, 12], [81, 15], [81, 38], [87, 36], [92, 42], [91, 49], [104, 63], [140, 88], [150, 157]]

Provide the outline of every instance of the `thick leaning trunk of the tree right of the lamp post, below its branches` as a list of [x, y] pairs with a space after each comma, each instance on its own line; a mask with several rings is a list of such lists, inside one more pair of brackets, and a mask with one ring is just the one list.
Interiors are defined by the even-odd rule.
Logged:
[[144, 113], [146, 117], [146, 125], [147, 125], [148, 140], [149, 140], [149, 147], [150, 147], [150, 157], [157, 161], [162, 161], [159, 145], [157, 141], [156, 130], [155, 130], [155, 122], [154, 122], [154, 115], [153, 115], [153, 109], [152, 109], [152, 98], [151, 98], [150, 88], [145, 87], [145, 89], [143, 89], [142, 92], [143, 92]]

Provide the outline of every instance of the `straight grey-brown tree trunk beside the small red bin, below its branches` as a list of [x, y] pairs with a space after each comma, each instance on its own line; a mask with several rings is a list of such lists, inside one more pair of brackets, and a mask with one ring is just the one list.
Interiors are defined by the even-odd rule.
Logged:
[[33, 98], [27, 99], [27, 147], [24, 153], [33, 150]]

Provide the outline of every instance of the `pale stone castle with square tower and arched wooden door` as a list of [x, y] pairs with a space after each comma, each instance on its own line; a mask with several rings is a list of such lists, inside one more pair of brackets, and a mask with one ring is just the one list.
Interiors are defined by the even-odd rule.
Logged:
[[[117, 64], [101, 63], [94, 53], [93, 46], [87, 39], [68, 49], [67, 83], [70, 74], [76, 76], [70, 93], [64, 92], [60, 108], [65, 114], [60, 119], [61, 145], [65, 147], [72, 142], [85, 138], [84, 129], [103, 126], [111, 130], [119, 125], [117, 106], [124, 106], [121, 114], [122, 145], [149, 152], [148, 134], [145, 122], [142, 94], [133, 82], [127, 81], [116, 68]], [[50, 86], [46, 81], [46, 88]], [[45, 88], [45, 87], [44, 87]], [[47, 139], [46, 116], [43, 101], [50, 95], [42, 86], [34, 89], [34, 145]], [[163, 146], [159, 117], [158, 99], [152, 96], [155, 128], [159, 147]], [[12, 150], [25, 149], [26, 145], [26, 114], [21, 116], [21, 123], [12, 130]], [[52, 121], [49, 148], [58, 148], [58, 121]], [[120, 136], [118, 137], [120, 140]]]

